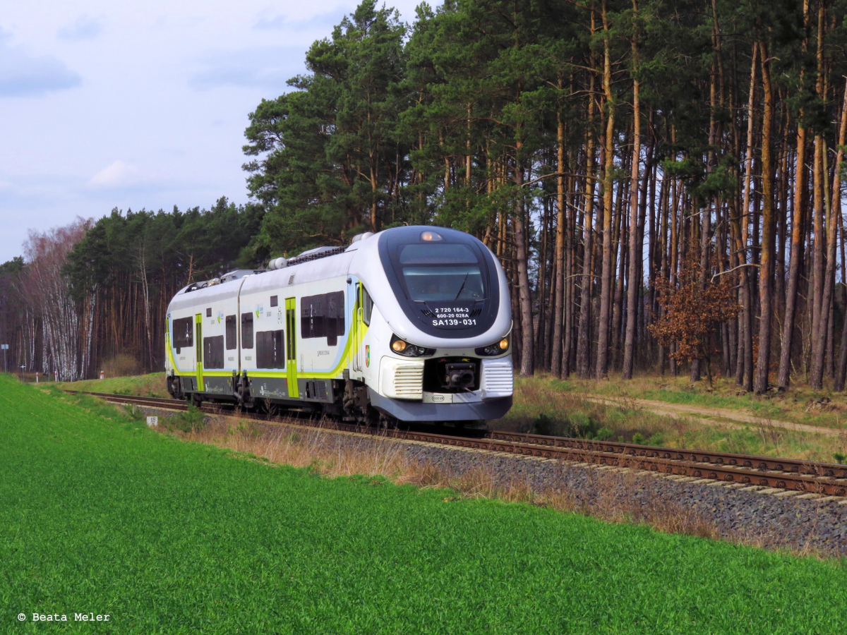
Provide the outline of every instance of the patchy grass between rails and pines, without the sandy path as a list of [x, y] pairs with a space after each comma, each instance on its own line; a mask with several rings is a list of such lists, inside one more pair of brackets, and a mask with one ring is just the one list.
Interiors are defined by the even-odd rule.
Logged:
[[[672, 383], [667, 384], [667, 389], [657, 388], [666, 385], [661, 384], [660, 380]], [[676, 383], [673, 384], [673, 381]], [[716, 380], [716, 392], [730, 391], [731, 387], [721, 387], [722, 381]], [[44, 385], [117, 395], [168, 396], [164, 373]], [[614, 406], [593, 403], [585, 399], [586, 393], [606, 395], [617, 403]], [[698, 406], [711, 404], [712, 407], [745, 407], [756, 412], [757, 420], [756, 424], [745, 428], [690, 422], [678, 417], [652, 414], [639, 408], [635, 399], [666, 400], [668, 403]], [[843, 400], [841, 397], [834, 399], [836, 401], [828, 408], [836, 408], [840, 403], [838, 400]], [[812, 408], [815, 412], [820, 410]], [[819, 416], [829, 417], [832, 421], [828, 421], [833, 425], [844, 423], [844, 417], [838, 418], [838, 412], [834, 410]], [[576, 379], [560, 381], [541, 375], [529, 379], [518, 378], [512, 410], [503, 419], [490, 422], [490, 427], [739, 454], [783, 456], [808, 461], [844, 462], [844, 456], [847, 456], [847, 429], [833, 436], [778, 428], [770, 423], [772, 419], [781, 417], [790, 420], [769, 400], [752, 395], [739, 397], [708, 394], [699, 387], [684, 383], [681, 378], [636, 378], [630, 383], [623, 383], [582, 382]], [[811, 419], [805, 417], [803, 421], [808, 423]]]

